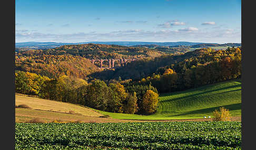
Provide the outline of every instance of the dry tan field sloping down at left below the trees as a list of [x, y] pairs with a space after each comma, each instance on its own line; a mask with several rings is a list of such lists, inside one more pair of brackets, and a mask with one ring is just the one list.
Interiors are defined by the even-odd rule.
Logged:
[[[91, 109], [80, 105], [27, 97], [23, 94], [15, 94], [15, 105], [26, 104], [31, 109], [16, 108], [15, 122], [26, 122], [35, 118], [45, 122], [62, 120], [64, 122], [129, 122], [102, 116]], [[73, 113], [69, 113], [73, 111]]]

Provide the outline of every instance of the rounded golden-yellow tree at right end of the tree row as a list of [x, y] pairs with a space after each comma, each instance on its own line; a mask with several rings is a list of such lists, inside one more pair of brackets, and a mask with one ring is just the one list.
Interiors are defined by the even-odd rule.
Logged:
[[142, 107], [146, 113], [153, 113], [156, 111], [157, 103], [159, 102], [159, 95], [152, 90], [147, 90], [143, 95]]

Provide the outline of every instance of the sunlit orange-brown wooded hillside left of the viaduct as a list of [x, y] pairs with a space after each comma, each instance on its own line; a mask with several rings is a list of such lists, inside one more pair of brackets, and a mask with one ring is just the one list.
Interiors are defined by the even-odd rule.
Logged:
[[100, 71], [90, 60], [69, 54], [45, 55], [42, 50], [26, 51], [17, 53], [15, 59], [15, 70], [28, 71], [58, 78], [63, 75], [86, 79], [92, 72]]

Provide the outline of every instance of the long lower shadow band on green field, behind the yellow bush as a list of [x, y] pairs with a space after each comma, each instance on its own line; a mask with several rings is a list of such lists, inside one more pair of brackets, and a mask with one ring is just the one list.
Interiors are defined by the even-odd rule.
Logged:
[[[225, 109], [228, 109], [230, 111], [234, 111], [234, 110], [241, 110], [241, 103], [237, 103], [237, 104], [230, 104], [230, 105], [222, 105]], [[177, 115], [168, 115], [170, 116], [182, 116], [182, 115], [193, 115], [193, 114], [202, 114], [202, 113], [212, 113], [214, 110], [219, 110], [221, 106], [216, 106], [213, 108], [208, 108], [208, 109], [201, 109], [201, 110], [196, 110], [196, 111], [189, 111], [186, 113], [182, 113], [182, 114], [177, 114]]]

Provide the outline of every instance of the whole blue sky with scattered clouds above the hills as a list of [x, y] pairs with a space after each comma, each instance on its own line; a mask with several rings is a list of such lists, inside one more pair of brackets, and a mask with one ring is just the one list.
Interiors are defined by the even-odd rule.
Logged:
[[15, 40], [241, 42], [241, 1], [16, 0]]

